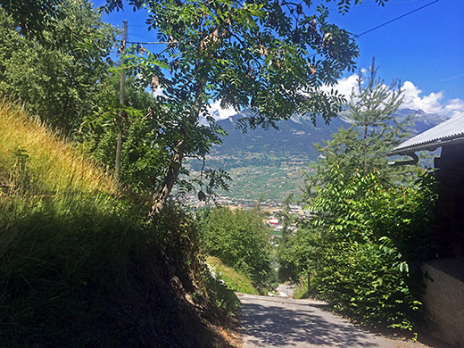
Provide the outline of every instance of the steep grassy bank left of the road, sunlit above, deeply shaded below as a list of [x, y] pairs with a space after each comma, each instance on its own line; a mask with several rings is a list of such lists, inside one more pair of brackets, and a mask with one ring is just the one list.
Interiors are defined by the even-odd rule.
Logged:
[[145, 212], [0, 100], [0, 346], [226, 346], [214, 323], [236, 298], [199, 262], [195, 223]]

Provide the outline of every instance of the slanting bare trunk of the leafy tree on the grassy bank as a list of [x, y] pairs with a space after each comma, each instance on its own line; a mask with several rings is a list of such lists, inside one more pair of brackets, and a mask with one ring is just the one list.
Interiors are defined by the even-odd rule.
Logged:
[[174, 154], [172, 155], [172, 161], [170, 162], [170, 168], [166, 173], [166, 177], [162, 182], [162, 187], [154, 199], [152, 205], [152, 210], [148, 215], [148, 220], [152, 220], [153, 217], [164, 210], [166, 207], [166, 202], [168, 201], [168, 196], [172, 190], [172, 186], [178, 180], [178, 173], [182, 167], [182, 160], [184, 159], [184, 150], [185, 150], [185, 139], [178, 141], [178, 145], [174, 148]]

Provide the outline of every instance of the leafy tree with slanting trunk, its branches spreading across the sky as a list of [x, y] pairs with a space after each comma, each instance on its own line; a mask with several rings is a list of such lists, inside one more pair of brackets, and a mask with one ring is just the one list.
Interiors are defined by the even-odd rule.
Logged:
[[[356, 2], [357, 3], [357, 2]], [[383, 4], [383, 1], [377, 1]], [[186, 156], [203, 157], [218, 142], [220, 128], [208, 114], [211, 101], [239, 111], [250, 106], [247, 127], [272, 127], [293, 113], [335, 117], [343, 102], [336, 91], [324, 92], [342, 71], [352, 70], [358, 55], [352, 37], [327, 22], [323, 4], [269, 1], [131, 2], [150, 8], [150, 28], [166, 49], [145, 57], [128, 55], [126, 68], [137, 70], [159, 100], [169, 105], [177, 138], [169, 169], [153, 203], [151, 216], [162, 211], [178, 180]], [[350, 2], [339, 2], [345, 12]], [[122, 2], [108, 0], [107, 11]], [[211, 132], [199, 123], [210, 122]]]

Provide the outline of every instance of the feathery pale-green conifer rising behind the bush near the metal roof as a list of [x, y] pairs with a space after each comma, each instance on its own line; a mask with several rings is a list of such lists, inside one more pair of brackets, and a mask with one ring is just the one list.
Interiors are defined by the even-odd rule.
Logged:
[[315, 175], [308, 177], [307, 195], [311, 195], [311, 187], [330, 182], [334, 165], [346, 175], [378, 170], [383, 179], [392, 183], [404, 181], [404, 174], [410, 172], [410, 167], [386, 165], [386, 154], [410, 135], [411, 116], [402, 120], [395, 116], [402, 104], [401, 83], [394, 80], [386, 85], [377, 79], [377, 70], [373, 58], [367, 76], [359, 71], [358, 88], [353, 89], [346, 104], [350, 126], [339, 128], [325, 145], [315, 145], [321, 155]]

